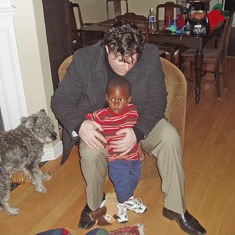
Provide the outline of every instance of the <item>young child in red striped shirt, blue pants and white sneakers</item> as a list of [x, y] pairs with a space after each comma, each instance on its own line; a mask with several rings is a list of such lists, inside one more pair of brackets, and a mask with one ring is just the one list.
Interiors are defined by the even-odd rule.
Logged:
[[125, 156], [119, 156], [110, 147], [110, 142], [122, 139], [124, 135], [117, 135], [116, 132], [123, 128], [132, 128], [137, 121], [138, 114], [131, 102], [131, 84], [124, 77], [114, 77], [107, 85], [106, 100], [109, 108], [87, 114], [86, 117], [99, 123], [107, 139], [109, 177], [112, 180], [116, 195], [118, 222], [128, 222], [127, 209], [136, 213], [144, 213], [147, 208], [140, 199], [133, 197], [141, 174], [141, 163], [144, 159], [144, 152], [141, 143], [136, 144]]

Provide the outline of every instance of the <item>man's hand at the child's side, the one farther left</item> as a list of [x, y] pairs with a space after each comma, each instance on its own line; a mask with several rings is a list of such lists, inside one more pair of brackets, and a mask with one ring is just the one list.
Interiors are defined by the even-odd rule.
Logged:
[[82, 123], [78, 134], [88, 147], [91, 149], [100, 150], [104, 148], [102, 142], [106, 144], [107, 140], [97, 130], [103, 132], [103, 128], [100, 124], [95, 121], [85, 120]]

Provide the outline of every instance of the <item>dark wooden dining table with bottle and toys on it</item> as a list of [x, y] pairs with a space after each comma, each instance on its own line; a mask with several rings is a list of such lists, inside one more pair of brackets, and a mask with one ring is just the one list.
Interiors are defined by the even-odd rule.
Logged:
[[[114, 23], [114, 19], [106, 20], [103, 22], [91, 24], [83, 27], [82, 32], [104, 32], [109, 26]], [[170, 43], [178, 44], [190, 49], [196, 49], [197, 53], [195, 56], [195, 103], [198, 104], [200, 101], [201, 93], [201, 77], [202, 77], [202, 66], [203, 66], [203, 48], [206, 43], [212, 39], [215, 35], [219, 35], [223, 23], [219, 23], [215, 28], [210, 29], [210, 32], [204, 35], [193, 35], [186, 33], [171, 33], [170, 31], [163, 31], [161, 28], [164, 23], [160, 23], [160, 29], [149, 32], [149, 43]]]

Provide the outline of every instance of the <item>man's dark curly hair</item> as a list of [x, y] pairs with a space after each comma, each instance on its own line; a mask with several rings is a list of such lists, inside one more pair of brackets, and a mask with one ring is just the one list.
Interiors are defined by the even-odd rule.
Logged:
[[[103, 46], [107, 46], [109, 52], [121, 56], [125, 61], [126, 56], [137, 55], [137, 60], [141, 59], [144, 39], [141, 30], [132, 22], [122, 19], [115, 22], [104, 32]], [[133, 59], [133, 58], [132, 58]]]

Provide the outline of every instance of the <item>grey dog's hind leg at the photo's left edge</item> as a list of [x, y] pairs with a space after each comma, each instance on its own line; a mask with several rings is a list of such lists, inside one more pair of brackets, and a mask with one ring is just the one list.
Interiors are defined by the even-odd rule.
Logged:
[[18, 215], [20, 208], [10, 207], [9, 200], [11, 180], [10, 175], [6, 172], [0, 172], [0, 210], [6, 212], [8, 215]]

